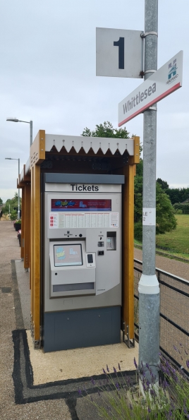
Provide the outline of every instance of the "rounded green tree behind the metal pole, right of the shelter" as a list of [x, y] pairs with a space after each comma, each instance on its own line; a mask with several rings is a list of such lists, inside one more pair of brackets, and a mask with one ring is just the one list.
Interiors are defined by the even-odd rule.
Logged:
[[[166, 186], [166, 181], [163, 181]], [[166, 183], [166, 184], [165, 184]], [[135, 239], [142, 241], [142, 184], [143, 184], [143, 161], [137, 165], [135, 176]], [[168, 184], [167, 184], [168, 185]], [[164, 234], [176, 229], [175, 210], [171, 205], [169, 196], [165, 193], [161, 184], [156, 183], [156, 234]]]

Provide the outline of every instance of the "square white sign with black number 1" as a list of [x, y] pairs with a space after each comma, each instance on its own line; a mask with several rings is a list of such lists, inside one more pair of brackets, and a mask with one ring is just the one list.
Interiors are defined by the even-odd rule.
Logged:
[[96, 75], [142, 78], [142, 30], [96, 28]]

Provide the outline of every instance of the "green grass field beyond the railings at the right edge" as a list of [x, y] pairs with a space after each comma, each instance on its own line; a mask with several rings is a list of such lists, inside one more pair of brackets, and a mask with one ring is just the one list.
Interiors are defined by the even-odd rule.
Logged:
[[[189, 260], [189, 215], [176, 215], [177, 226], [172, 232], [157, 235], [156, 244], [162, 251]], [[135, 244], [140, 244], [135, 240]]]

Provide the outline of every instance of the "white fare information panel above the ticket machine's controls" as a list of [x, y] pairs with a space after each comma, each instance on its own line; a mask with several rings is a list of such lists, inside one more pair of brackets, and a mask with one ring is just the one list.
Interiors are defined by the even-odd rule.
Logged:
[[118, 227], [118, 212], [50, 212], [49, 228]]

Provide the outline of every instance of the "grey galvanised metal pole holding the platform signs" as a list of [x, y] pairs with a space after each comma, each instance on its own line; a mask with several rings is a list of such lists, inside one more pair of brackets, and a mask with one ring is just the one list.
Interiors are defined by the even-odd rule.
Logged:
[[[157, 71], [158, 0], [145, 0], [145, 79]], [[159, 282], [155, 271], [157, 107], [144, 112], [142, 276], [139, 282], [139, 366], [158, 385]]]

